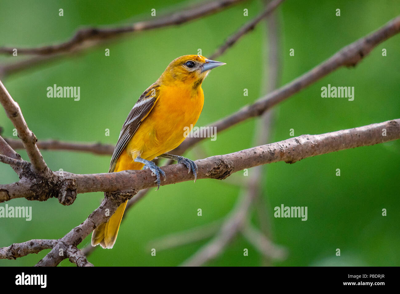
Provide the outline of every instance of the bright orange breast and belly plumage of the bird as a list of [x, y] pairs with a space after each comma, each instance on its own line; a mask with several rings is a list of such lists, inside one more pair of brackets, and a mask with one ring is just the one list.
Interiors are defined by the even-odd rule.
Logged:
[[196, 124], [204, 104], [200, 85], [195, 89], [183, 83], [160, 85], [159, 90], [154, 107], [120, 154], [115, 172], [142, 169], [143, 164], [134, 162], [134, 158], [140, 155], [146, 160], [153, 160], [171, 151], [183, 142], [187, 130], [192, 130], [191, 127]]

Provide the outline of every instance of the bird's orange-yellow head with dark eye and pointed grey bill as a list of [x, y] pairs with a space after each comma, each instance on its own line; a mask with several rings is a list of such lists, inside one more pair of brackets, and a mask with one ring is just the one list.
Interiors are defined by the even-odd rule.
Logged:
[[178, 57], [167, 66], [160, 76], [163, 84], [183, 83], [192, 88], [198, 87], [213, 68], [226, 63], [209, 60], [201, 55], [185, 55]]

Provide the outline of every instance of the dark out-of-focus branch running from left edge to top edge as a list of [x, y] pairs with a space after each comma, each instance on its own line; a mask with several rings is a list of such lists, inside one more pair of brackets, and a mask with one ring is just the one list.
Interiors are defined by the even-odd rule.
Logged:
[[[127, 33], [141, 32], [162, 28], [166, 26], [179, 25], [191, 20], [195, 20], [202, 16], [207, 16], [216, 13], [224, 8], [232, 6], [242, 0], [216, 0], [212, 2], [202, 3], [202, 5], [176, 12], [172, 15], [167, 15], [160, 18], [152, 18], [152, 20], [136, 22], [128, 26], [118, 28], [83, 28], [78, 30], [74, 36], [61, 44], [55, 44], [43, 47], [20, 48], [18, 46], [0, 47], [0, 53], [12, 54], [14, 48], [18, 50], [18, 54], [56, 54], [60, 52], [69, 52], [75, 50], [85, 42], [94, 42], [99, 40], [107, 40], [122, 36]], [[92, 45], [91, 45], [92, 46]]]

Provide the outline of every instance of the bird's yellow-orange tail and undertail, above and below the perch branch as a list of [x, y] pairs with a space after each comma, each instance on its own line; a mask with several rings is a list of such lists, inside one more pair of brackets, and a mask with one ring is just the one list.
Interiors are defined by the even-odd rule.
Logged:
[[[127, 155], [127, 152], [123, 152], [122, 154], [123, 155], [121, 155], [120, 158], [118, 158], [114, 172], [120, 172], [122, 170], [142, 169], [143, 167], [142, 163], [133, 162], [132, 157], [129, 157]], [[122, 203], [117, 208], [117, 210], [110, 217], [108, 222], [101, 224], [96, 229], [94, 229], [92, 233], [92, 246], [100, 244], [100, 246], [102, 246], [103, 248], [108, 248], [108, 249], [111, 249], [112, 246], [114, 246], [127, 202], [128, 201]]]

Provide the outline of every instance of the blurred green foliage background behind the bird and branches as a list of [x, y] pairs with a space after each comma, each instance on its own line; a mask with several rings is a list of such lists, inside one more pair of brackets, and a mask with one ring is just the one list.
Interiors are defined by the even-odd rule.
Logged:
[[[92, 1], [11, 1], [0, 2], [2, 46], [40, 46], [70, 38], [82, 26], [107, 26], [156, 17], [163, 12], [198, 4], [200, 1], [150, 0], [118, 2]], [[178, 56], [204, 56], [214, 50], [242, 24], [263, 9], [262, 1], [245, 1], [200, 20], [180, 26], [150, 30], [115, 42], [102, 44], [83, 54], [24, 70], [2, 79], [19, 103], [30, 129], [39, 140], [48, 138], [78, 142], [115, 144], [120, 128], [142, 92]], [[58, 16], [58, 9], [64, 16]], [[243, 16], [247, 8], [249, 16]], [[340, 8], [341, 16], [335, 16]], [[365, 36], [394, 18], [400, 11], [392, 1], [288, 0], [277, 10], [280, 26], [280, 85], [330, 57], [337, 50]], [[268, 76], [266, 23], [244, 36], [217, 60], [227, 65], [214, 70], [203, 84], [205, 104], [198, 120], [204, 126], [252, 103], [265, 94]], [[400, 36], [378, 45], [356, 68], [340, 68], [274, 108], [270, 142], [294, 135], [320, 134], [399, 118]], [[110, 56], [104, 56], [105, 48]], [[294, 48], [295, 56], [289, 56]], [[386, 48], [387, 56], [382, 56]], [[24, 56], [0, 58], [2, 64]], [[80, 86], [80, 101], [47, 98], [48, 86]], [[321, 87], [354, 86], [355, 99], [321, 98]], [[243, 96], [243, 89], [248, 96]], [[204, 140], [186, 157], [226, 154], [253, 146], [257, 124], [251, 119], [217, 134], [216, 141]], [[0, 111], [3, 136], [12, 137], [13, 126]], [[110, 136], [105, 136], [105, 129]], [[18, 150], [28, 159], [23, 150]], [[42, 151], [52, 170], [85, 174], [108, 170], [110, 156], [88, 153]], [[289, 251], [276, 266], [400, 265], [400, 141], [343, 150], [306, 158], [296, 164], [270, 164], [263, 181], [266, 207], [270, 215], [272, 239]], [[335, 176], [340, 168], [341, 176]], [[249, 170], [251, 175], [252, 170]], [[112, 250], [98, 248], [88, 260], [95, 266], [176, 266], [184, 262], [207, 240], [150, 255], [150, 241], [166, 234], [189, 230], [223, 218], [234, 206], [246, 182], [243, 172], [225, 182], [198, 180], [163, 186], [152, 191], [127, 215]], [[9, 166], [0, 164], [0, 183], [18, 180]], [[102, 193], [79, 194], [71, 206], [57, 199], [46, 202], [12, 200], [8, 205], [32, 206], [32, 221], [0, 219], [0, 247], [30, 239], [61, 238], [83, 222], [98, 207]], [[308, 206], [308, 220], [274, 218], [274, 207]], [[4, 203], [1, 204], [4, 206]], [[197, 216], [197, 209], [202, 216]], [[382, 208], [387, 216], [382, 216]], [[90, 244], [90, 236], [80, 248]], [[151, 248], [151, 247], [150, 247]], [[243, 249], [249, 255], [243, 256]], [[340, 248], [341, 256], [335, 256]], [[0, 260], [1, 266], [32, 266], [40, 254]], [[211, 266], [258, 266], [261, 256], [239, 236]], [[61, 266], [72, 266], [64, 260]]]

